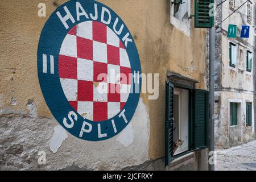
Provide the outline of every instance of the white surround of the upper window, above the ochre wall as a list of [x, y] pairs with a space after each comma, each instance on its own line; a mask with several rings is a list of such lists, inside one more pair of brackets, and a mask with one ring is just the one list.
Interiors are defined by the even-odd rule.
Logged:
[[[171, 13], [170, 13], [170, 20], [171, 24], [175, 26], [177, 29], [181, 30], [184, 32], [185, 35], [191, 36], [191, 19], [188, 18], [188, 22], [181, 22], [179, 19], [177, 19], [174, 16], [174, 4], [172, 4], [174, 0], [170, 0], [170, 7], [171, 7]], [[187, 1], [187, 0], [184, 0]], [[184, 6], [184, 5], [180, 5]], [[188, 16], [191, 15], [191, 1], [187, 1], [187, 11], [188, 11]]]

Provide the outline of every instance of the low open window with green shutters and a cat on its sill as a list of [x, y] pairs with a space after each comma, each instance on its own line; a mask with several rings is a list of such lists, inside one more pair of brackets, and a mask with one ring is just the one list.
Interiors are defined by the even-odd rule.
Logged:
[[209, 92], [166, 83], [166, 166], [187, 152], [208, 147]]

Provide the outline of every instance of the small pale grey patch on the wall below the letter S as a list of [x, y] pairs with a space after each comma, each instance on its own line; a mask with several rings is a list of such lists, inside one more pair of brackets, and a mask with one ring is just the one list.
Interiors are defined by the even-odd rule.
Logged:
[[65, 139], [68, 139], [67, 132], [60, 125], [55, 126], [54, 134], [49, 144], [49, 147], [53, 154], [55, 154], [59, 150], [61, 144], [65, 141]]

